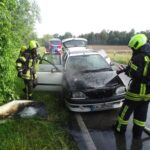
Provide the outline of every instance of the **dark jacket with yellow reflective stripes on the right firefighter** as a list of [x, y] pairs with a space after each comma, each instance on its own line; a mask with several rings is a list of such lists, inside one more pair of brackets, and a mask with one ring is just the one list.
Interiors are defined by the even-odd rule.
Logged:
[[131, 83], [125, 98], [134, 101], [150, 100], [150, 45], [146, 44], [138, 51], [126, 69]]

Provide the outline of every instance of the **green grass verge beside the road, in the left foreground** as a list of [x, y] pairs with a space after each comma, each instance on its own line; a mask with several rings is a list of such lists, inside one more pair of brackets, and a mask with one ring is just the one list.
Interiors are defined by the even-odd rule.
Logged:
[[67, 131], [69, 112], [58, 94], [35, 92], [34, 98], [45, 103], [48, 118], [9, 119], [1, 123], [0, 150], [77, 150]]

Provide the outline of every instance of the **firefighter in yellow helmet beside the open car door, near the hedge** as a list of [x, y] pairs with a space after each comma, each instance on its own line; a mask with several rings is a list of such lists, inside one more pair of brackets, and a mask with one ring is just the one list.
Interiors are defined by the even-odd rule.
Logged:
[[33, 88], [37, 84], [36, 65], [38, 64], [37, 55], [38, 44], [32, 40], [29, 42], [29, 48], [23, 51], [16, 61], [18, 77], [22, 78], [25, 83], [23, 91], [27, 99], [32, 99]]

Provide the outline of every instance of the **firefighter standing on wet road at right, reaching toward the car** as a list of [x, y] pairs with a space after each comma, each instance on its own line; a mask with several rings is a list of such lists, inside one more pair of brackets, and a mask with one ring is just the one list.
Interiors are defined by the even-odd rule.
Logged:
[[145, 34], [135, 34], [129, 41], [132, 57], [128, 66], [117, 71], [131, 78], [125, 101], [120, 109], [114, 129], [125, 134], [129, 118], [133, 113], [133, 138], [140, 139], [145, 126], [150, 101], [150, 44]]

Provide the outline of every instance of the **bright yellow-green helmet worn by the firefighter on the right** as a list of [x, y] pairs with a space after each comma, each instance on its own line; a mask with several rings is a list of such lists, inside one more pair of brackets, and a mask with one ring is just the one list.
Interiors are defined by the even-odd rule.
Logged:
[[128, 46], [133, 50], [138, 50], [141, 46], [145, 45], [147, 41], [145, 34], [136, 34], [131, 37]]

